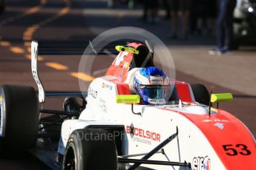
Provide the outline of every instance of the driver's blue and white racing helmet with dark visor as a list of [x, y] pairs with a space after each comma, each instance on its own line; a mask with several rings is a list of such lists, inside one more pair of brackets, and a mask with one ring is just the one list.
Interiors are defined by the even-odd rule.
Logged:
[[145, 104], [164, 104], [168, 100], [169, 80], [165, 72], [157, 67], [137, 70], [133, 87]]

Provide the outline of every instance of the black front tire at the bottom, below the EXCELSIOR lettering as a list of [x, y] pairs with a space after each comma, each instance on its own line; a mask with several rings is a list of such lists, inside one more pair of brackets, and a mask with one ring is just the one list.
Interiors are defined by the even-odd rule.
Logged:
[[[110, 132], [103, 129], [78, 129], [68, 139], [62, 169], [117, 169], [117, 152]], [[96, 140], [96, 136], [99, 138]]]

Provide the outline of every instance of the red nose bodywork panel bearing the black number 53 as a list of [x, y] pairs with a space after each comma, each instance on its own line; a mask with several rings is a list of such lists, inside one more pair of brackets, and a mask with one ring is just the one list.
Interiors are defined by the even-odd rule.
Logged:
[[[177, 112], [174, 110], [171, 111]], [[191, 120], [203, 132], [224, 166], [226, 166], [226, 169], [256, 169], [255, 141], [246, 126], [229, 112], [218, 109], [218, 113], [212, 114], [211, 117], [207, 114], [177, 113]], [[224, 128], [220, 129], [216, 126], [216, 123], [223, 123]], [[242, 145], [245, 145], [251, 154], [243, 155], [249, 152], [244, 150]], [[229, 149], [228, 151], [224, 150], [225, 146]], [[237, 155], [228, 155], [232, 154], [232, 149], [230, 148], [235, 149]]]

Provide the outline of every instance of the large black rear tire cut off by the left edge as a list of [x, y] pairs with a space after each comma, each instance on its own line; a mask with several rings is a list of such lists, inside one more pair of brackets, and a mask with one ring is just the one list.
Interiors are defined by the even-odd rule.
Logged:
[[0, 86], [0, 156], [19, 154], [36, 146], [39, 109], [30, 86]]

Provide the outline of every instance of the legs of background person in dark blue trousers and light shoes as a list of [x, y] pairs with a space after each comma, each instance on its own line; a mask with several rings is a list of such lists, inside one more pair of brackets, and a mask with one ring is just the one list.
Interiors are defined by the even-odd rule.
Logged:
[[210, 54], [223, 54], [232, 50], [233, 41], [233, 12], [237, 0], [219, 0], [219, 14], [217, 18], [217, 48]]

